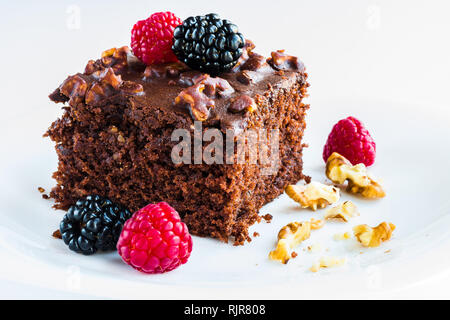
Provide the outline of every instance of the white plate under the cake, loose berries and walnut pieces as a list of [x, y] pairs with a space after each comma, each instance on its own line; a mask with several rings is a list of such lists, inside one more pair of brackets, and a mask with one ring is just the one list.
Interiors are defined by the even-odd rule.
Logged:
[[[53, 186], [56, 168], [52, 144], [18, 134], [5, 143], [0, 172], [0, 278], [60, 292], [111, 298], [338, 298], [406, 290], [448, 275], [450, 263], [450, 127], [449, 113], [436, 106], [399, 105], [367, 101], [310, 101], [304, 171], [326, 181], [321, 152], [332, 125], [348, 115], [362, 120], [377, 143], [371, 171], [383, 179], [387, 196], [368, 201], [342, 193], [354, 201], [361, 215], [349, 223], [329, 222], [296, 250], [298, 257], [282, 265], [268, 259], [278, 230], [316, 213], [300, 209], [286, 195], [266, 205], [261, 214], [271, 223], [251, 228], [260, 236], [234, 247], [194, 237], [187, 264], [163, 275], [144, 275], [115, 253], [82, 256], [53, 239], [63, 212], [51, 209], [37, 191]], [[426, 110], [426, 112], [425, 112]], [[26, 120], [30, 126], [33, 117]], [[44, 116], [50, 119], [50, 115]], [[42, 123], [41, 123], [42, 124]], [[13, 132], [12, 125], [6, 126]], [[44, 128], [44, 129], [43, 129]], [[364, 249], [355, 239], [335, 241], [337, 232], [355, 224], [393, 222], [393, 238], [379, 248]], [[303, 249], [319, 243], [322, 251]], [[309, 271], [321, 256], [346, 257], [347, 264], [318, 273]]]

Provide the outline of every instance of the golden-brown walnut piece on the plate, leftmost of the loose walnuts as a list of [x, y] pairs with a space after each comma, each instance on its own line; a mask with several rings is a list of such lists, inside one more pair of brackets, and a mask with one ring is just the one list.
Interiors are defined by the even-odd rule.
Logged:
[[291, 258], [291, 250], [311, 234], [310, 222], [291, 222], [278, 232], [278, 243], [275, 250], [269, 253], [270, 260], [286, 264]]

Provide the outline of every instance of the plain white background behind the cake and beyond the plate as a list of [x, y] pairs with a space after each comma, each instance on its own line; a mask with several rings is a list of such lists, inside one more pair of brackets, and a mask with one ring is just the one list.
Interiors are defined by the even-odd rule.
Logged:
[[[47, 95], [103, 50], [129, 45], [137, 20], [166, 10], [182, 19], [219, 13], [236, 23], [258, 52], [286, 49], [299, 56], [310, 75], [312, 108], [315, 101], [333, 108], [333, 101], [364, 99], [374, 113], [378, 101], [389, 101], [422, 106], [414, 111], [419, 118], [428, 106], [448, 115], [449, 9], [449, 1], [2, 1], [1, 154], [38, 152], [42, 133], [60, 114]], [[320, 112], [327, 116], [327, 109]], [[389, 118], [389, 110], [382, 112]], [[33, 183], [39, 185], [37, 179]], [[443, 276], [366, 297], [450, 298], [448, 287], [450, 278]], [[82, 296], [2, 279], [0, 297]]]

